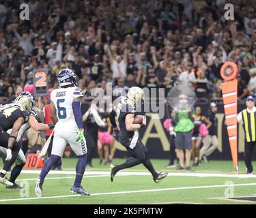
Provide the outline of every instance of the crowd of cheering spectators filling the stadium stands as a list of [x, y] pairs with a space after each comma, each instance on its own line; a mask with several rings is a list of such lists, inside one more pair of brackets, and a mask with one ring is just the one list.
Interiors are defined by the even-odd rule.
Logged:
[[[31, 89], [33, 69], [74, 69], [85, 97], [95, 87], [173, 87], [190, 82], [198, 99], [221, 97], [221, 66], [238, 65], [239, 99], [256, 94], [256, 5], [229, 0], [0, 1], [0, 96]], [[16, 10], [15, 10], [16, 8]], [[27, 85], [27, 87], [26, 87]], [[33, 87], [32, 87], [33, 89]]]

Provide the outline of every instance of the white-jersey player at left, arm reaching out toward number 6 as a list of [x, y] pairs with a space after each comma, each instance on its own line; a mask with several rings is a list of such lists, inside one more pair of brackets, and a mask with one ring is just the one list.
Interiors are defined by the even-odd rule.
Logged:
[[[36, 131], [44, 131], [44, 130], [53, 128], [55, 125], [55, 123], [48, 123], [48, 124], [38, 123], [37, 119], [35, 118], [35, 116], [36, 116], [35, 97], [33, 97], [33, 95], [31, 93], [29, 93], [28, 91], [23, 91], [16, 98], [16, 101], [19, 100], [20, 96], [27, 96], [31, 99], [32, 109], [29, 111], [29, 121], [27, 123], [23, 124], [20, 127], [20, 130], [18, 131], [18, 136], [17, 136], [17, 140], [16, 140], [17, 142], [20, 140], [21, 136], [23, 136], [25, 131], [27, 131], [27, 129], [29, 129], [30, 127], [35, 129]], [[11, 131], [12, 131], [12, 129], [9, 129], [7, 131], [7, 133], [10, 134]], [[6, 155], [7, 149], [0, 146], [0, 152], [4, 153]], [[26, 163], [26, 157], [23, 153], [23, 150], [20, 149], [20, 151], [18, 152], [18, 157], [15, 160], [15, 166], [12, 169], [11, 176], [10, 176], [10, 182], [13, 183], [13, 185], [12, 186], [6, 185], [7, 189], [22, 189], [23, 188], [23, 186], [16, 184], [15, 181], [16, 181], [16, 178], [18, 177], [18, 175], [20, 174], [21, 170], [25, 166], [25, 163]]]

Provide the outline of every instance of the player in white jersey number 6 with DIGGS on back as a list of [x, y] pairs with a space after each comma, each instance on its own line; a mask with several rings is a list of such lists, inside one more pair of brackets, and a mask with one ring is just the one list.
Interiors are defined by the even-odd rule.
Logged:
[[71, 69], [61, 69], [57, 75], [60, 89], [51, 93], [51, 119], [56, 123], [51, 156], [44, 163], [40, 176], [35, 181], [35, 195], [42, 197], [44, 178], [63, 155], [67, 144], [70, 144], [78, 156], [76, 178], [71, 188], [72, 193], [89, 196], [81, 186], [87, 159], [87, 146], [83, 134], [81, 99], [83, 92], [77, 86], [76, 74]]

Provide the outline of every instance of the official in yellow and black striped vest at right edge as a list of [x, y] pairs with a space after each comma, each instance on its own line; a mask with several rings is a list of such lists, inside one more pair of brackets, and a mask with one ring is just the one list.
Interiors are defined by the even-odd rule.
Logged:
[[253, 172], [251, 164], [253, 155], [253, 147], [256, 146], [256, 107], [255, 97], [249, 95], [246, 98], [246, 109], [242, 110], [238, 116], [238, 122], [243, 121], [244, 128], [244, 161], [246, 165], [247, 174]]

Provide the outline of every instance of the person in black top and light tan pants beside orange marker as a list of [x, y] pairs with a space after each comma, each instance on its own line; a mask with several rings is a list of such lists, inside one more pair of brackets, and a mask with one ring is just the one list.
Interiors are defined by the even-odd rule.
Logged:
[[214, 102], [212, 102], [210, 104], [210, 112], [207, 116], [207, 119], [212, 123], [212, 125], [208, 129], [208, 136], [205, 136], [205, 138], [203, 138], [203, 147], [200, 150], [200, 159], [203, 158], [205, 162], [208, 162], [208, 156], [218, 148], [218, 119], [216, 118], [217, 111], [217, 105]]

